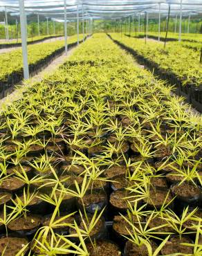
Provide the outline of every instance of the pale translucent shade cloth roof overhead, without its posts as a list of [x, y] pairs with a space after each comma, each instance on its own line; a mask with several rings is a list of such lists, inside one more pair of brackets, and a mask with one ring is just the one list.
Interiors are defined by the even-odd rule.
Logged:
[[[64, 0], [25, 0], [27, 14], [43, 15], [51, 19], [64, 18]], [[130, 15], [148, 12], [154, 16], [159, 12], [167, 15], [168, 6], [171, 6], [171, 15], [178, 15], [181, 10], [181, 0], [67, 0], [67, 17], [75, 19], [77, 8], [79, 17], [92, 19], [119, 19]], [[5, 6], [12, 15], [19, 15], [18, 0], [0, 0], [0, 10]], [[202, 15], [202, 0], [183, 0], [183, 15]]]

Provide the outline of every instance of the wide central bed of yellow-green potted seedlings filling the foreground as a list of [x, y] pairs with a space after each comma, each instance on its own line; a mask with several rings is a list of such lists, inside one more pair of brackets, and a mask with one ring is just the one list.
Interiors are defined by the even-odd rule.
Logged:
[[13, 102], [1, 254], [200, 255], [201, 116], [171, 90], [95, 34]]

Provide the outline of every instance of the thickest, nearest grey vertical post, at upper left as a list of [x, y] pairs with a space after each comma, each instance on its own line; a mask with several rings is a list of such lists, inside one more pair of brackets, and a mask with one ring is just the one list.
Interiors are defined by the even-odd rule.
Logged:
[[21, 25], [21, 48], [24, 64], [24, 79], [29, 79], [28, 48], [26, 37], [26, 15], [24, 12], [24, 0], [19, 0], [20, 25]]

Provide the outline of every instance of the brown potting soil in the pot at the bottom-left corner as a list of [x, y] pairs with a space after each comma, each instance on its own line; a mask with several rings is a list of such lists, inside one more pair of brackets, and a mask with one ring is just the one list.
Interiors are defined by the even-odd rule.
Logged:
[[[5, 256], [15, 256], [22, 248], [24, 248], [24, 246], [26, 246], [26, 244], [28, 244], [28, 240], [26, 238], [2, 237], [0, 239], [0, 254]], [[28, 248], [25, 250], [25, 252], [27, 250]]]

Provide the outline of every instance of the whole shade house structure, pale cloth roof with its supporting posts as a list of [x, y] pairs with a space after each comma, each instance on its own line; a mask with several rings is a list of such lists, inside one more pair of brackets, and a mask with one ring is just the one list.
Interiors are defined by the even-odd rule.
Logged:
[[[190, 17], [202, 14], [202, 0], [109, 0], [109, 1], [91, 1], [91, 0], [62, 0], [62, 1], [32, 1], [32, 0], [8, 0], [0, 1], [1, 11], [6, 12], [6, 24], [8, 28], [7, 12], [9, 11], [13, 16], [20, 17], [21, 24], [21, 45], [23, 50], [24, 60], [24, 78], [29, 78], [28, 70], [28, 54], [26, 43], [26, 22], [29, 15], [37, 15], [38, 26], [39, 16], [44, 16], [53, 21], [64, 22], [64, 37], [65, 37], [65, 51], [68, 50], [67, 42], [67, 22], [77, 21], [77, 35], [79, 35], [79, 22], [82, 21], [82, 33], [84, 34], [84, 22], [86, 21], [86, 32], [92, 32], [93, 20], [99, 19], [134, 19], [138, 17], [138, 25], [140, 24], [140, 16], [147, 15], [148, 18], [156, 17], [158, 19], [158, 39], [160, 38], [160, 19], [165, 17], [169, 11], [170, 16], [180, 19], [179, 24], [179, 41], [181, 41], [182, 17], [187, 16], [190, 22]], [[170, 10], [169, 10], [170, 9]], [[188, 24], [189, 27], [189, 24]], [[138, 28], [139, 29], [139, 28]], [[48, 26], [47, 26], [48, 30]], [[6, 30], [8, 37], [8, 29]], [[79, 37], [77, 37], [77, 44], [79, 44]]]

